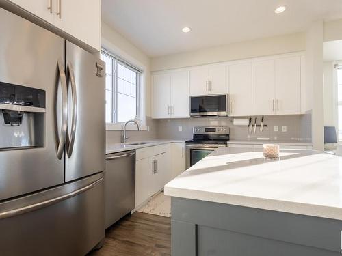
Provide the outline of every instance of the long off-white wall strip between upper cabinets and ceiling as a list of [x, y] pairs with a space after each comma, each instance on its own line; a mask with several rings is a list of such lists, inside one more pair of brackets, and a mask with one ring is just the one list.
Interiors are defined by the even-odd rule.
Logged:
[[167, 70], [235, 59], [291, 53], [304, 51], [305, 47], [305, 33], [293, 33], [205, 48], [199, 51], [155, 57], [151, 60], [151, 70]]

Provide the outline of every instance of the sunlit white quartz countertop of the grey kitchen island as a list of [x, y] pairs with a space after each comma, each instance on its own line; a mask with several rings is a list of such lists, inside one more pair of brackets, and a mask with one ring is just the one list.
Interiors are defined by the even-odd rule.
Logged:
[[170, 181], [165, 195], [342, 220], [342, 158], [315, 150], [219, 148]]

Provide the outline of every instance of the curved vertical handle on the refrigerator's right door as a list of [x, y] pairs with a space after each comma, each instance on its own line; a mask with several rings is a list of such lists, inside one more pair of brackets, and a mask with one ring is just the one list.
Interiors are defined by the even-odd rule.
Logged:
[[[69, 132], [66, 132], [66, 152], [68, 154], [68, 158], [73, 154], [73, 148], [75, 143], [75, 133], [76, 133], [76, 123], [77, 123], [77, 96], [76, 96], [76, 82], [75, 82], [75, 73], [73, 65], [68, 63], [68, 76], [70, 77], [71, 83], [71, 94], [73, 98], [73, 117], [71, 121], [71, 134], [69, 139]], [[68, 128], [67, 128], [68, 130]]]

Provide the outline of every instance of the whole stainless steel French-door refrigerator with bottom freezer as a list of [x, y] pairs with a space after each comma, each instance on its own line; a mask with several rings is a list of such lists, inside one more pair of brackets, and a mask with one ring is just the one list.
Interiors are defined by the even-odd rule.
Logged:
[[103, 61], [0, 8], [0, 255], [105, 236]]

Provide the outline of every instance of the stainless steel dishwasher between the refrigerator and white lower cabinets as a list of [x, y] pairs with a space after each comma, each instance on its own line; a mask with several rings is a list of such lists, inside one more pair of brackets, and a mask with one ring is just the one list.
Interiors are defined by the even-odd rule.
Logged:
[[105, 228], [135, 207], [135, 150], [106, 155]]

